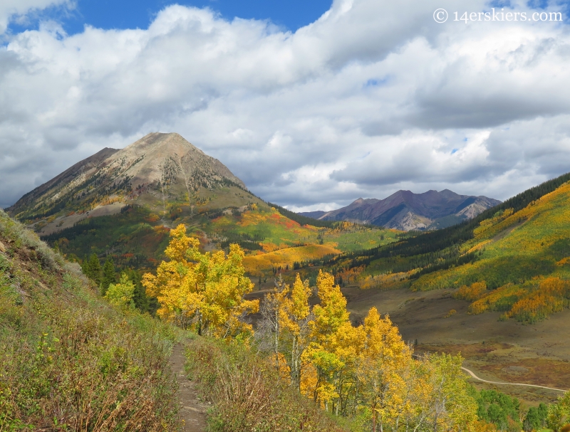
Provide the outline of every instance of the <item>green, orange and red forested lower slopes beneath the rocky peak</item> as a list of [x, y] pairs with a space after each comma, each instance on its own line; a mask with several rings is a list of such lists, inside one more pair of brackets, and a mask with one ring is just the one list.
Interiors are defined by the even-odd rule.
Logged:
[[[229, 243], [238, 243], [252, 257], [248, 261], [252, 263], [250, 274], [269, 275], [277, 267], [293, 268], [295, 263], [323, 256], [374, 248], [400, 236], [395, 230], [345, 222], [310, 225], [312, 219], [270, 206], [237, 186], [203, 188], [200, 196], [203, 204], [193, 209], [184, 199], [172, 197], [165, 203], [166, 211], [162, 211], [162, 202], [152, 205], [125, 200], [116, 214], [81, 218], [73, 226], [62, 226], [41, 238], [71, 260], [81, 262], [95, 253], [101, 263], [113, 260], [118, 270], [146, 270], [164, 258], [170, 229], [184, 223], [200, 239], [202, 248], [224, 249]], [[66, 209], [68, 214], [72, 208]], [[33, 227], [38, 231], [43, 224]], [[284, 253], [287, 258], [279, 262], [259, 256], [284, 249], [288, 249]]]

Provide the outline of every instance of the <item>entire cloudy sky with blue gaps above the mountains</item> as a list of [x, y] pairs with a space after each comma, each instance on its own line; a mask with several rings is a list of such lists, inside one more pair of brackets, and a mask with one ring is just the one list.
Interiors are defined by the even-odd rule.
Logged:
[[0, 206], [149, 132], [180, 133], [294, 211], [398, 189], [507, 199], [570, 171], [567, 13], [544, 0], [3, 0]]

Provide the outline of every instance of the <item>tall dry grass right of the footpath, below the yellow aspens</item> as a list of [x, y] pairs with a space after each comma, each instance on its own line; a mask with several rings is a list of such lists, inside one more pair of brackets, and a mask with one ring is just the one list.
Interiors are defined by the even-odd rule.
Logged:
[[213, 404], [209, 432], [346, 430], [247, 347], [200, 337], [186, 354], [187, 371]]

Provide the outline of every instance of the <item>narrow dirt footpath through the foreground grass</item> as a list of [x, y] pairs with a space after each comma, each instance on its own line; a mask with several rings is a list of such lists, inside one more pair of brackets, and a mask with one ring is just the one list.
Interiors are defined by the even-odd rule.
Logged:
[[207, 405], [198, 399], [195, 384], [186, 378], [184, 347], [177, 344], [172, 348], [170, 367], [178, 381], [178, 401], [180, 403], [181, 432], [203, 432], [206, 430]]

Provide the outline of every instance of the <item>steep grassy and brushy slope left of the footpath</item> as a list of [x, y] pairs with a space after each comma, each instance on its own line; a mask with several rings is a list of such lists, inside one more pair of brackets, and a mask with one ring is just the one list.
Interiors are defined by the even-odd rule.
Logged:
[[176, 430], [170, 327], [113, 310], [4, 211], [0, 241], [0, 430]]

